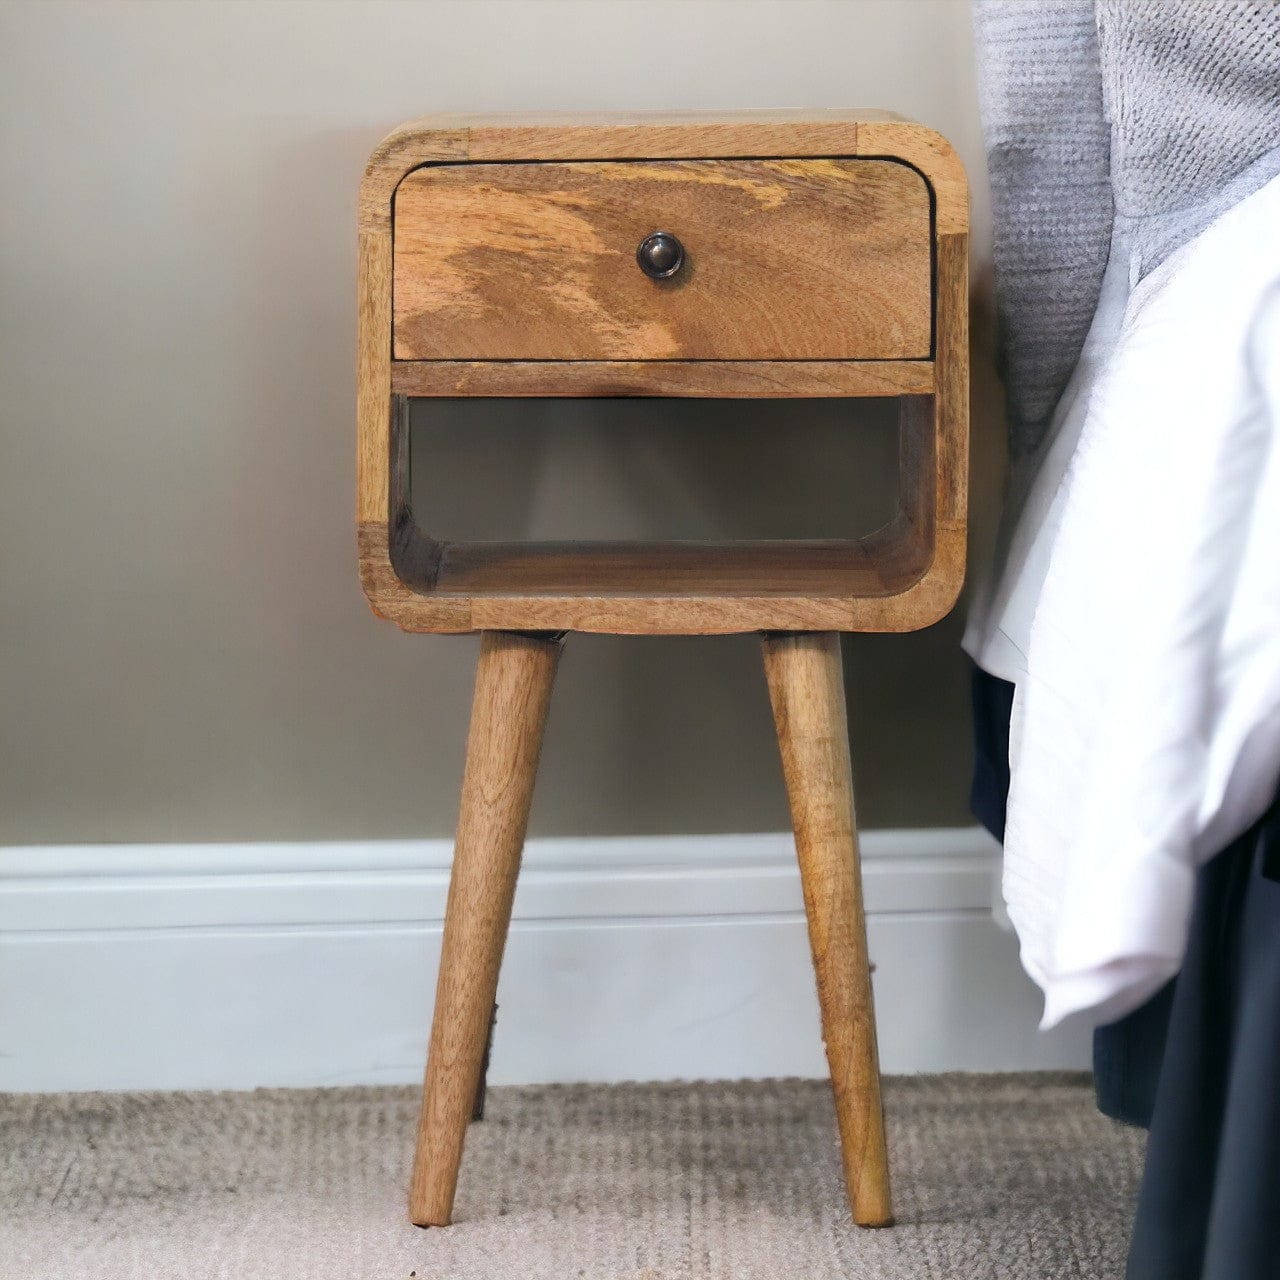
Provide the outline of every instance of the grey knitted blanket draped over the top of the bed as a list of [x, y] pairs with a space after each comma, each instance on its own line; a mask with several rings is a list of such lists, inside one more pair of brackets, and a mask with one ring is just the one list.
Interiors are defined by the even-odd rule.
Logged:
[[1277, 0], [975, 0], [1010, 457], [1033, 454], [1112, 234], [1139, 274], [1280, 173]]

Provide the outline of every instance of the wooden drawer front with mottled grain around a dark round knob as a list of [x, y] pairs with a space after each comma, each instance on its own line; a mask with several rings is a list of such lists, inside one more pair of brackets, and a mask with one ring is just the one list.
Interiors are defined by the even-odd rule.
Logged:
[[[640, 242], [685, 261], [653, 280]], [[890, 160], [433, 165], [393, 221], [397, 360], [927, 360], [929, 191]]]

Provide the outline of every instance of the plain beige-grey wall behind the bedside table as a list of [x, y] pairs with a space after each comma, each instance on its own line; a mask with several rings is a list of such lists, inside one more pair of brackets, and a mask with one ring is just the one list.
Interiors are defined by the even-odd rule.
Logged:
[[[475, 644], [375, 621], [355, 573], [353, 200], [390, 125], [892, 108], [970, 165], [984, 279], [970, 38], [963, 0], [0, 6], [0, 842], [451, 828]], [[977, 362], [988, 509], [998, 426]], [[873, 503], [874, 415], [855, 456], [829, 408], [797, 412], [797, 438]], [[593, 443], [611, 410], [591, 413], [544, 424], [534, 506], [582, 489], [640, 529], [687, 515], [703, 447], [668, 430], [637, 494], [623, 453]], [[797, 474], [792, 509], [844, 518], [828, 470]], [[744, 492], [759, 479], [746, 465]], [[726, 500], [724, 520], [753, 518]], [[849, 643], [869, 826], [966, 820], [956, 637]], [[783, 823], [749, 639], [571, 641], [535, 829]]]

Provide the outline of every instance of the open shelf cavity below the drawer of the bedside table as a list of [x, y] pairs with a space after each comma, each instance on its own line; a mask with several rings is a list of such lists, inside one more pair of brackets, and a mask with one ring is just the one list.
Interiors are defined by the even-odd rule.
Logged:
[[439, 595], [867, 595], [918, 576], [891, 399], [402, 399], [392, 558]]

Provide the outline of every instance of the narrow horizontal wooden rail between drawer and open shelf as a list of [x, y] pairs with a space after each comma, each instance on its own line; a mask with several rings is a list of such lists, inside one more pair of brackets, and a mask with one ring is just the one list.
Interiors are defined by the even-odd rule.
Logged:
[[929, 396], [931, 360], [396, 360], [401, 396]]

